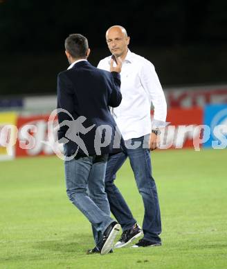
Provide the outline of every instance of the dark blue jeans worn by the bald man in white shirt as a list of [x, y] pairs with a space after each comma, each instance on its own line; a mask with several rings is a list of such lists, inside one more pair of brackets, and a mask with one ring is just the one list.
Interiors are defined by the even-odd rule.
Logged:
[[125, 152], [120, 152], [109, 157], [105, 178], [105, 191], [107, 192], [111, 212], [116, 217], [118, 223], [120, 223], [122, 230], [128, 230], [134, 226], [136, 219], [131, 214], [131, 210], [122, 197], [120, 190], [114, 184], [116, 172], [120, 169], [127, 157], [129, 157], [130, 165], [136, 179], [136, 185], [143, 198], [145, 208], [143, 238], [158, 243], [161, 242], [161, 238], [159, 237], [161, 234], [161, 214], [156, 184], [152, 177], [150, 152], [147, 147], [143, 148], [143, 139], [144, 137], [131, 139], [132, 145], [136, 141], [141, 142], [141, 145], [136, 149], [125, 148]]

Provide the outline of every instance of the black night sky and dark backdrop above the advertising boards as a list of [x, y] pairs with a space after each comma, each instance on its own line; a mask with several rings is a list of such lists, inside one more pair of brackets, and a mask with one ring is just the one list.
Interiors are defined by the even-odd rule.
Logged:
[[227, 1], [0, 0], [0, 95], [55, 93], [68, 67], [64, 39], [89, 39], [89, 61], [109, 55], [105, 32], [126, 28], [129, 48], [156, 67], [164, 87], [227, 81]]

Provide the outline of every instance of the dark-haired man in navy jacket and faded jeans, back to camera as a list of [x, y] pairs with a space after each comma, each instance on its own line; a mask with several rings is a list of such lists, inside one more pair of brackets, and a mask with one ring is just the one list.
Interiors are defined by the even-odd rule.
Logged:
[[[57, 108], [64, 143], [66, 192], [72, 203], [89, 219], [96, 235], [96, 247], [89, 253], [108, 253], [114, 245], [119, 224], [111, 219], [105, 193], [105, 170], [114, 146], [116, 123], [109, 106], [120, 105], [121, 62], [111, 62], [111, 72], [99, 70], [87, 61], [90, 49], [86, 37], [71, 34], [65, 41], [71, 66], [57, 77]], [[119, 134], [117, 134], [119, 136]]]

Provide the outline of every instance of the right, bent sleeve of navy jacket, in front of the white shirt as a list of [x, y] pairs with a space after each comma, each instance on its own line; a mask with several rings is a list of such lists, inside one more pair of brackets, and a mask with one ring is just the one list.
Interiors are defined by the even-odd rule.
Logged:
[[111, 72], [112, 92], [108, 101], [108, 106], [116, 108], [120, 105], [122, 95], [120, 92], [120, 74], [118, 72]]

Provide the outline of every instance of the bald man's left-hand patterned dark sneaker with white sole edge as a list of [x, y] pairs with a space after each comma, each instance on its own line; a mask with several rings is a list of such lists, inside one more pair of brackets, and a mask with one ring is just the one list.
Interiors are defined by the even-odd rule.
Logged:
[[122, 232], [122, 235], [119, 239], [119, 241], [114, 246], [115, 248], [122, 248], [123, 246], [126, 246], [128, 243], [131, 243], [134, 239], [140, 237], [140, 235], [143, 235], [143, 231], [138, 226], [138, 224], [134, 224], [134, 226], [129, 229]]

